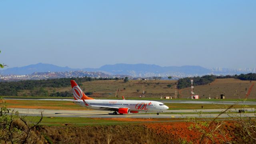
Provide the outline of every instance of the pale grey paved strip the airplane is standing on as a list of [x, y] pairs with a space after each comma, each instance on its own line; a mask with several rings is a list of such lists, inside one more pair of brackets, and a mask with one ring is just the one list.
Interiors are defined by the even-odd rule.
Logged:
[[[26, 109], [26, 108], [11, 108], [11, 110], [18, 111], [22, 115], [27, 116], [40, 116], [40, 112], [46, 117], [87, 117], [87, 118], [186, 118], [186, 117], [196, 117], [200, 118], [198, 114], [146, 114], [141, 112], [138, 114], [123, 114], [123, 115], [113, 115], [110, 111], [102, 110], [40, 110], [40, 109]], [[236, 112], [238, 110], [231, 109]], [[200, 110], [166, 110], [165, 112], [196, 112]], [[224, 109], [208, 109], [202, 110], [202, 112], [222, 112]], [[254, 112], [254, 109], [247, 109], [248, 112]], [[236, 113], [240, 115], [240, 113]], [[205, 118], [215, 118], [218, 114], [202, 114]], [[245, 115], [242, 114], [242, 117]], [[254, 113], [248, 113], [247, 116], [254, 117]], [[227, 114], [222, 114], [219, 118], [228, 118]]]

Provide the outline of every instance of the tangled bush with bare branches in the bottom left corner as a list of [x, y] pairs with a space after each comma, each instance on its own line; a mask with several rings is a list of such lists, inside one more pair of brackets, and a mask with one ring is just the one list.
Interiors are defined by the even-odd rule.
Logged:
[[[36, 123], [28, 122], [26, 116], [21, 116], [18, 111], [6, 108], [4, 100], [0, 97], [0, 143], [11, 144], [36, 144], [42, 143], [42, 135], [38, 134], [38, 124], [42, 121], [41, 111], [40, 120]], [[39, 142], [41, 141], [41, 142]]]

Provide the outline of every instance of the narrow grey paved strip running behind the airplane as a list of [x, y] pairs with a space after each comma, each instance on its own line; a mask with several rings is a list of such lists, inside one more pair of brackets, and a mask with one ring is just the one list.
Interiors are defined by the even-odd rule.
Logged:
[[[71, 99], [51, 99], [51, 98], [4, 98], [6, 100], [51, 100], [51, 101], [66, 101]], [[141, 99], [143, 100], [143, 99]], [[241, 101], [200, 101], [200, 100], [154, 100], [162, 103], [182, 103], [182, 104], [243, 104]], [[244, 104], [256, 105], [255, 102], [246, 101]]]

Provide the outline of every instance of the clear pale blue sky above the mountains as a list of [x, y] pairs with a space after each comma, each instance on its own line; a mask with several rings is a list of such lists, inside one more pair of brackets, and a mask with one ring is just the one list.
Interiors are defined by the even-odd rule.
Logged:
[[0, 0], [0, 62], [256, 68], [255, 0]]

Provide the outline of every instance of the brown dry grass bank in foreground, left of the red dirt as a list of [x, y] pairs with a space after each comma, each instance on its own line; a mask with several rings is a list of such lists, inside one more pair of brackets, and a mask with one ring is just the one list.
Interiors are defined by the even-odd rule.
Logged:
[[[141, 124], [114, 126], [42, 126], [40, 131], [53, 143], [70, 144], [167, 144], [177, 141], [159, 135]], [[110, 140], [111, 138], [111, 140]]]

